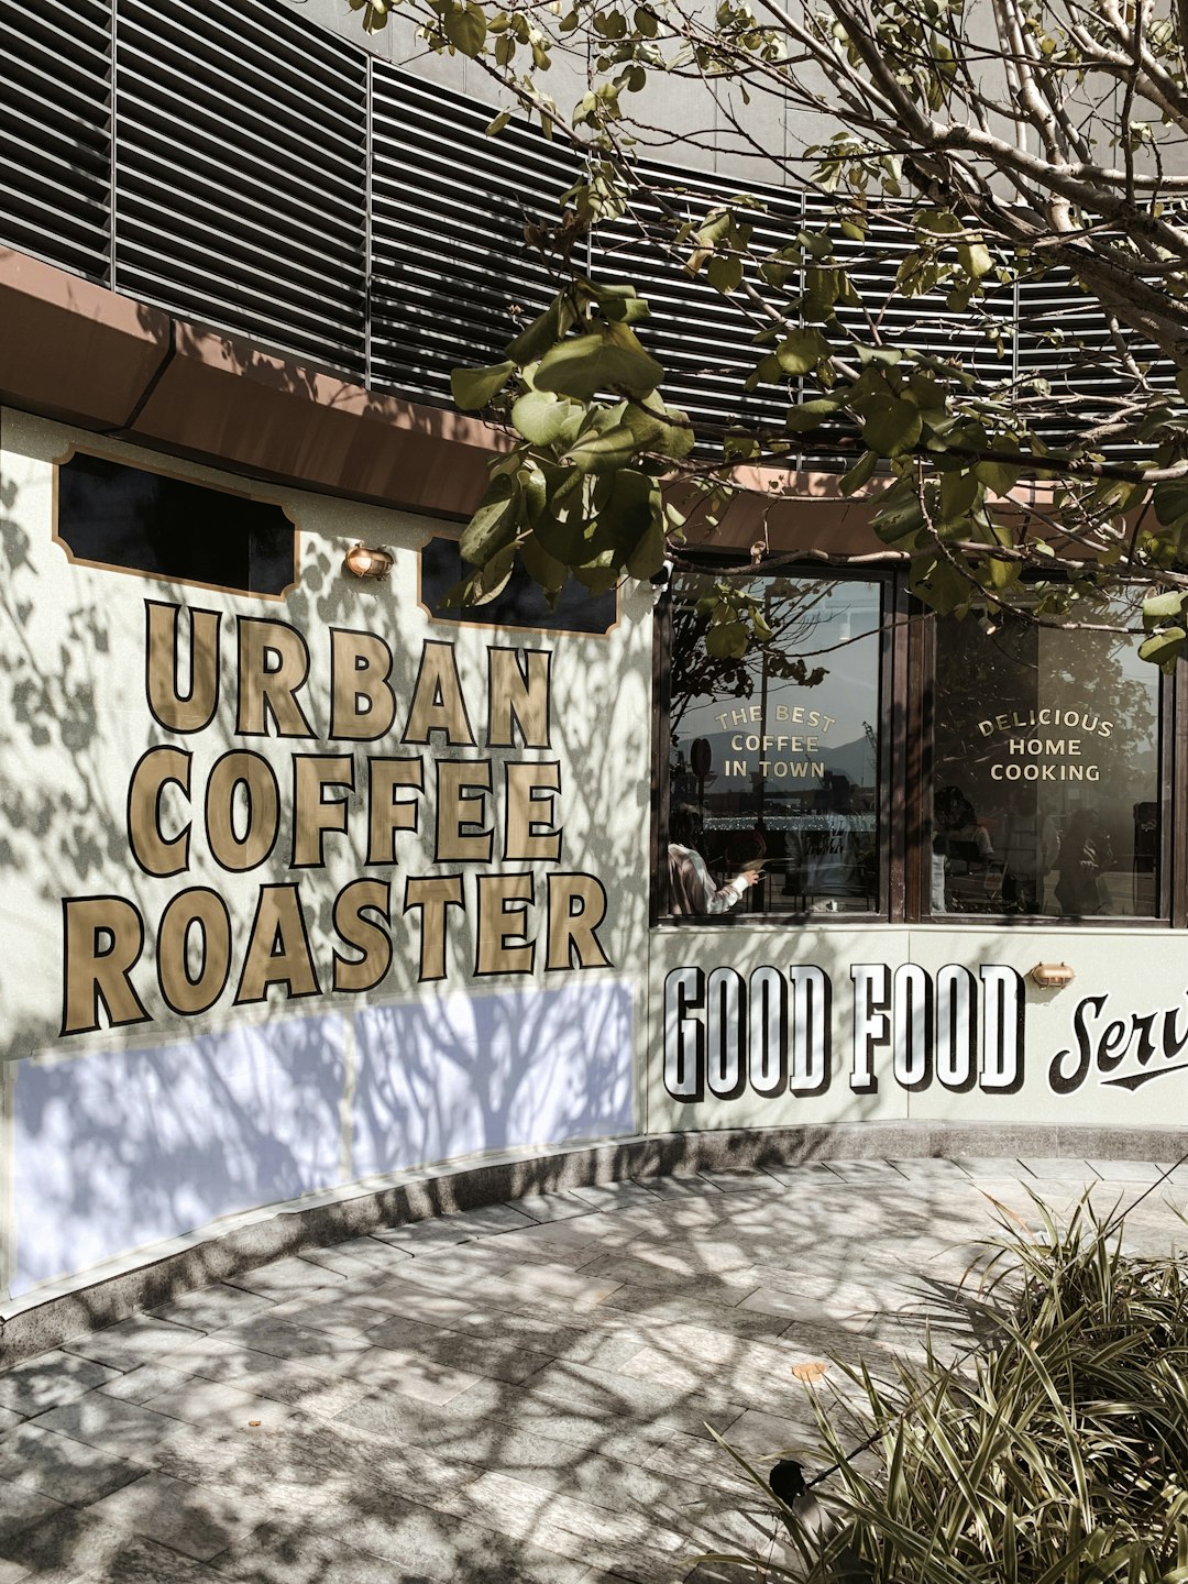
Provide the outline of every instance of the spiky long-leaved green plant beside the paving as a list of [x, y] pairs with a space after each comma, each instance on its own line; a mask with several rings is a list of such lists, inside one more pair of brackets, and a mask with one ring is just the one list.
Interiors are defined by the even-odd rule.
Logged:
[[928, 1345], [892, 1384], [840, 1365], [866, 1437], [817, 1400], [824, 1527], [732, 1454], [784, 1544], [705, 1562], [805, 1584], [1188, 1584], [1188, 1262], [1123, 1253], [1088, 1201], [1066, 1226], [1039, 1213], [1038, 1236], [1003, 1223], [966, 1357]]

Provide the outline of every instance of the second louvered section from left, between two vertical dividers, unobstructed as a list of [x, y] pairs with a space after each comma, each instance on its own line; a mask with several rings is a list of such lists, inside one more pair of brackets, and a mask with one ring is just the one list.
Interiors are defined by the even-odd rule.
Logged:
[[364, 52], [250, 0], [120, 0], [116, 105], [116, 287], [363, 375]]

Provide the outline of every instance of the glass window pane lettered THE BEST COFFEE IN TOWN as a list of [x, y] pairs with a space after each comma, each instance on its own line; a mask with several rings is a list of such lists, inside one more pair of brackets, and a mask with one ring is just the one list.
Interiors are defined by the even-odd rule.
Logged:
[[743, 659], [706, 653], [713, 584], [673, 583], [670, 840], [716, 887], [759, 871], [735, 912], [874, 912], [882, 584], [756, 578], [771, 637]]

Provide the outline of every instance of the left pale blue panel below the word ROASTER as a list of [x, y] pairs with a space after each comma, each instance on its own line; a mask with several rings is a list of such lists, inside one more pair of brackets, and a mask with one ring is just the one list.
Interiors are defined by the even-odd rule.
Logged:
[[339, 1177], [344, 1026], [19, 1064], [13, 1294]]

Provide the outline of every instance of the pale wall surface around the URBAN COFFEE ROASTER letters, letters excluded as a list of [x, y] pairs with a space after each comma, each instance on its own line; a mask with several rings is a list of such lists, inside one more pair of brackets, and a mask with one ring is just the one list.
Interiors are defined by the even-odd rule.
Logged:
[[[645, 1025], [648, 597], [624, 600], [616, 629], [597, 638], [432, 623], [417, 599], [415, 550], [440, 524], [274, 486], [258, 486], [258, 494], [279, 501], [301, 532], [299, 586], [282, 602], [76, 565], [52, 542], [54, 463], [74, 444], [215, 486], [257, 488], [0, 413], [0, 1220], [8, 1291], [27, 1293], [219, 1217], [361, 1175], [477, 1150], [632, 1133]], [[356, 540], [393, 550], [386, 583], [364, 584], [341, 572]], [[165, 732], [146, 702], [146, 599], [223, 616], [219, 713], [190, 737]], [[282, 619], [306, 635], [312, 668], [304, 699], [318, 732], [326, 729], [331, 627], [366, 629], [388, 642], [394, 730], [423, 643], [455, 645], [478, 746], [444, 748], [437, 737], [423, 749], [426, 768], [439, 759], [491, 757], [499, 787], [504, 760], [559, 760], [561, 862], [505, 866], [534, 871], [537, 906], [527, 917], [537, 936], [550, 873], [602, 879], [608, 906], [597, 936], [611, 966], [545, 973], [540, 949], [531, 976], [475, 982], [469, 873], [466, 917], [448, 931], [447, 976], [418, 984], [420, 930], [417, 914], [401, 912], [404, 878], [467, 868], [434, 862], [432, 773], [420, 832], [398, 838], [396, 870], [366, 866], [366, 809], [356, 790], [347, 835], [326, 836], [325, 868], [290, 871], [291, 832], [282, 814], [277, 849], [258, 870], [219, 870], [195, 819], [188, 871], [143, 873], [130, 855], [127, 798], [130, 775], [154, 744], [174, 741], [193, 752], [195, 806], [211, 765], [230, 749], [268, 757], [282, 808], [295, 752], [353, 748], [363, 765], [367, 752], [412, 751], [399, 741], [242, 740], [234, 719], [236, 616]], [[551, 651], [548, 749], [486, 754], [489, 643]], [[360, 771], [356, 787], [363, 779]], [[493, 802], [497, 814], [499, 798]], [[177, 828], [184, 803], [166, 794], [163, 806]], [[489, 865], [497, 868], [497, 860]], [[334, 995], [333, 901], [348, 881], [367, 874], [391, 879], [393, 966], [372, 992]], [[236, 1007], [260, 887], [293, 881], [323, 993], [288, 1000], [274, 987], [266, 1003]], [[185, 887], [217, 890], [233, 925], [228, 988], [192, 1019], [168, 1011], [155, 976], [157, 920]], [[144, 955], [131, 977], [147, 1020], [62, 1038], [63, 898], [100, 895], [131, 901], [146, 920]]]

